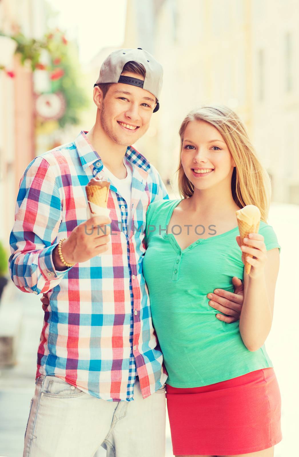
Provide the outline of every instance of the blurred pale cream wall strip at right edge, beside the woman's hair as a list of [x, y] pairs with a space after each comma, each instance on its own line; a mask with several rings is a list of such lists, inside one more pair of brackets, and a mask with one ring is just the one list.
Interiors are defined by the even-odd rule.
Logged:
[[[265, 18], [267, 17], [267, 21]], [[272, 176], [273, 200], [299, 204], [299, 4], [254, 1], [253, 138]]]

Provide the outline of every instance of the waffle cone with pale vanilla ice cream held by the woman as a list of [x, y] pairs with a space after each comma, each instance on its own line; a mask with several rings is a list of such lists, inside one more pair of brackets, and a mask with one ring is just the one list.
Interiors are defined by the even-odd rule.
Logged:
[[[258, 233], [261, 221], [261, 212], [258, 207], [254, 205], [247, 205], [244, 208], [236, 211], [241, 244], [249, 246], [249, 244], [244, 243], [244, 238], [248, 238], [250, 233]], [[242, 252], [242, 261], [245, 265], [245, 271], [249, 275], [251, 270], [251, 264], [246, 262], [246, 257], [253, 258], [253, 255], [246, 252]]]

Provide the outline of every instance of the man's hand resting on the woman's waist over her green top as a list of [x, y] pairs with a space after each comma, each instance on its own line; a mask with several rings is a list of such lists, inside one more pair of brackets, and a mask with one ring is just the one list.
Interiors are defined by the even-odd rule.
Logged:
[[234, 293], [223, 289], [215, 289], [214, 293], [208, 294], [208, 298], [210, 298], [208, 304], [212, 308], [220, 311], [220, 313], [226, 314], [226, 316], [224, 316], [224, 314], [216, 314], [217, 319], [227, 322], [228, 324], [240, 319], [244, 301], [244, 287], [242, 281], [234, 276], [232, 282], [235, 287]]

